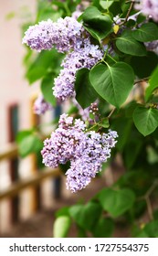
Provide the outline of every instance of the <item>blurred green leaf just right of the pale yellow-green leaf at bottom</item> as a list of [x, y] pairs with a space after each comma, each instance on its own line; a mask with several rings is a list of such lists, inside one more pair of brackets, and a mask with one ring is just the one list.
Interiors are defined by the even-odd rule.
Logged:
[[85, 206], [76, 205], [69, 208], [70, 216], [82, 229], [92, 230], [96, 221], [100, 218], [102, 209], [100, 204], [89, 202]]

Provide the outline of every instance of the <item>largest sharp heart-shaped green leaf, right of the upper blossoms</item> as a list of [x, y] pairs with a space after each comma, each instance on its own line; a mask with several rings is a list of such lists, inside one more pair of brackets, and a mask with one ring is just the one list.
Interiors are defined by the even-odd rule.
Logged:
[[132, 90], [134, 73], [124, 62], [99, 64], [90, 70], [90, 82], [104, 100], [119, 108]]

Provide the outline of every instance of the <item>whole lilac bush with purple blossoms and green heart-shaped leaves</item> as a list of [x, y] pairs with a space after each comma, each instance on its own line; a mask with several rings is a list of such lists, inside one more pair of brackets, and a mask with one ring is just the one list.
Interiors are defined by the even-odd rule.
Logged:
[[[114, 168], [112, 174], [120, 177], [110, 187], [86, 205], [62, 209], [57, 221], [67, 217], [85, 237], [111, 237], [120, 218], [132, 236], [157, 237], [158, 1], [48, 3], [49, 11], [39, 10], [37, 25], [23, 38], [29, 61], [29, 48], [37, 51], [26, 78], [41, 80], [46, 101], [35, 102], [36, 112], [47, 111], [50, 102], [69, 109], [53, 121], [57, 128], [37, 153], [44, 165], [59, 166], [72, 193], [101, 177], [116, 155], [122, 163], [121, 173]], [[39, 130], [31, 133], [38, 136]]]

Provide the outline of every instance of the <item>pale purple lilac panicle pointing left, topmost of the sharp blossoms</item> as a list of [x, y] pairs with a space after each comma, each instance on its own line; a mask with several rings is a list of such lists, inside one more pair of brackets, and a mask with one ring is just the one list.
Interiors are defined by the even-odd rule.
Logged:
[[57, 22], [48, 19], [28, 27], [23, 44], [37, 51], [55, 47], [58, 52], [67, 52], [75, 48], [79, 40], [83, 40], [82, 29], [82, 25], [73, 17], [60, 17]]

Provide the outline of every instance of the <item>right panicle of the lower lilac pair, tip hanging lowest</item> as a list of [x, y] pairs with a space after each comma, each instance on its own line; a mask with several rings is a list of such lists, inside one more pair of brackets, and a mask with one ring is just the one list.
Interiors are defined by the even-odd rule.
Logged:
[[[103, 162], [111, 157], [111, 148], [116, 144], [116, 132], [86, 133], [85, 148], [78, 158], [74, 158], [68, 169], [66, 186], [71, 192], [85, 188], [92, 177], [101, 170]], [[85, 139], [85, 138], [84, 138]]]

